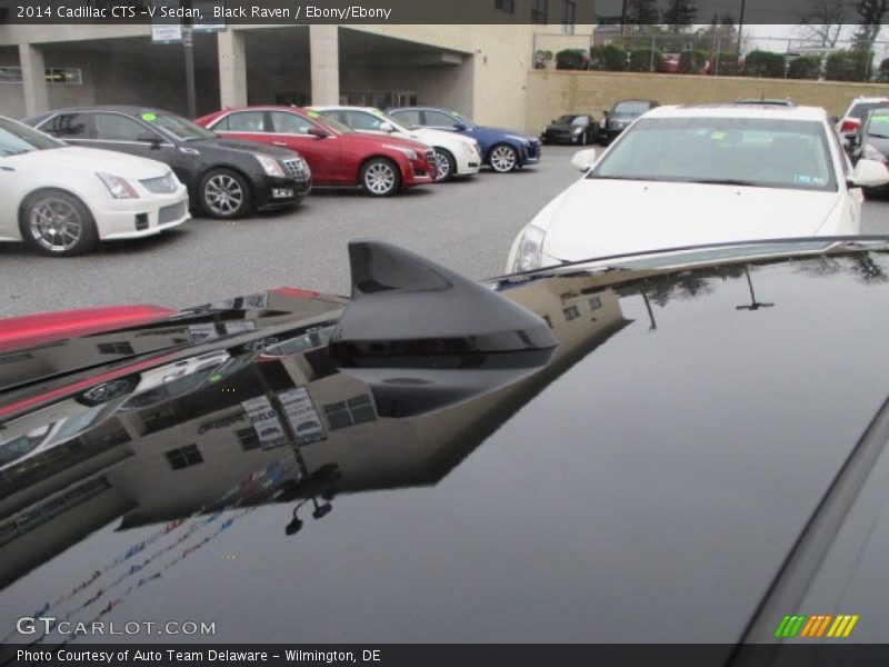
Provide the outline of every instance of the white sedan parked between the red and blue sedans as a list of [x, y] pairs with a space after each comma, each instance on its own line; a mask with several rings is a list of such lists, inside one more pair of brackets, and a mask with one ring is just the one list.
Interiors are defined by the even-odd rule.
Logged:
[[473, 176], [483, 162], [481, 147], [471, 137], [430, 128], [411, 129], [373, 107], [312, 107], [312, 110], [330, 116], [357, 132], [393, 135], [426, 143], [436, 151], [438, 181]]

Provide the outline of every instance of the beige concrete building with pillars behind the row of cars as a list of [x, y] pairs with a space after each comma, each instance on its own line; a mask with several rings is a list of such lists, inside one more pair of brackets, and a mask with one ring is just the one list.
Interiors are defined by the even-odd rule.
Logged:
[[[489, 7], [480, 10], [482, 2]], [[462, 16], [491, 23], [230, 24], [196, 33], [197, 112], [246, 103], [420, 103], [521, 128], [535, 49], [546, 48], [551, 36], [562, 48], [588, 48], [592, 4], [450, 0], [451, 16], [462, 9]], [[96, 103], [186, 112], [183, 47], [154, 43], [151, 33], [151, 26], [0, 19], [0, 115], [22, 118]]]

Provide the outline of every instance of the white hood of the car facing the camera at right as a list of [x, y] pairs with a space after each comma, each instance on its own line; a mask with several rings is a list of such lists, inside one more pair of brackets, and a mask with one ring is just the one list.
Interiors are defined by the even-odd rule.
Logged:
[[[566, 261], [722, 241], [835, 233], [838, 192], [582, 179], [535, 225]], [[832, 226], [832, 225], [831, 225]]]

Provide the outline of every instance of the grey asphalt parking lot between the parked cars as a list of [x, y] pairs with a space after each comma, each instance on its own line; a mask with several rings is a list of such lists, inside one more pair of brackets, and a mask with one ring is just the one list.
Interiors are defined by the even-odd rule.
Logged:
[[[372, 237], [421, 252], [471, 278], [502, 272], [515, 235], [578, 172], [571, 147], [509, 173], [416, 188], [389, 199], [314, 190], [297, 209], [236, 222], [198, 218], [92, 255], [44, 258], [0, 245], [0, 317], [111, 303], [182, 308], [300, 287], [348, 293], [349, 239]], [[865, 233], [889, 233], [889, 200], [865, 205]]]

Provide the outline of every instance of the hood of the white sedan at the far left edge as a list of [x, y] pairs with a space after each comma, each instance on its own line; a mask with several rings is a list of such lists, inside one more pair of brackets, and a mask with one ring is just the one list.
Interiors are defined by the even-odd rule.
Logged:
[[121, 178], [137, 180], [157, 178], [170, 171], [167, 165], [147, 158], [128, 156], [127, 153], [112, 150], [81, 148], [79, 146], [34, 150], [14, 156], [13, 159], [16, 160], [14, 165], [46, 169], [51, 172], [76, 170], [94, 173], [97, 171], [102, 171]]

